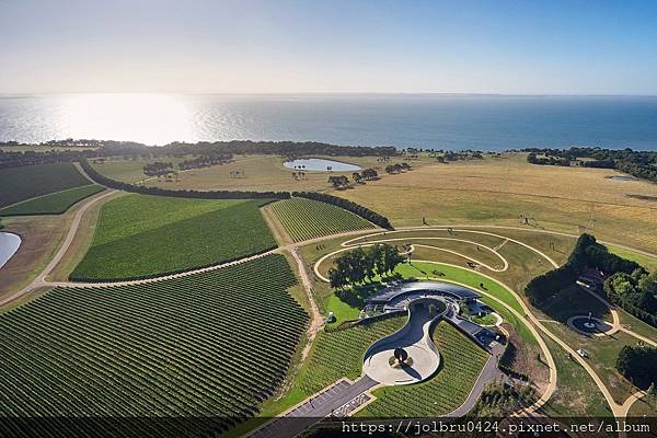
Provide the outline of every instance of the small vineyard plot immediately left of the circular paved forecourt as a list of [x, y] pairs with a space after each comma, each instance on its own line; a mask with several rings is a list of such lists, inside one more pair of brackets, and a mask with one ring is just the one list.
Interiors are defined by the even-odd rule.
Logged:
[[308, 365], [297, 380], [298, 388], [304, 395], [311, 395], [343, 377], [356, 379], [362, 371], [362, 359], [368, 347], [400, 330], [405, 322], [406, 316], [394, 316], [320, 333], [307, 359]]

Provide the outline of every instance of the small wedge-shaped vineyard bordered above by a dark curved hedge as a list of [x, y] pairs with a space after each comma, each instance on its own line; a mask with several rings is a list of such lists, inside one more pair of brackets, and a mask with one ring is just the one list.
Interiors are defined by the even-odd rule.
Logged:
[[319, 200], [291, 198], [274, 204], [272, 209], [295, 242], [373, 228], [353, 212]]

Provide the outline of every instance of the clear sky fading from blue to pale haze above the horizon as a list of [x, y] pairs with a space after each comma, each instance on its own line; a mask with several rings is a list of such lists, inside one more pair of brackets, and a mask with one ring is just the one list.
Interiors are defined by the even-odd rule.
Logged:
[[0, 93], [657, 95], [657, 1], [0, 0]]

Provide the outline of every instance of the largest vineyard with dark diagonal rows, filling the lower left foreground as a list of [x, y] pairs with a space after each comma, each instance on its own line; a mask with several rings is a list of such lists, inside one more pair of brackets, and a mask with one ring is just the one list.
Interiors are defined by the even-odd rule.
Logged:
[[[148, 285], [56, 288], [0, 315], [0, 416], [230, 428], [285, 377], [308, 322], [295, 284], [285, 257], [268, 255]], [[159, 424], [170, 436], [207, 426]]]

